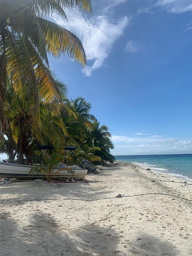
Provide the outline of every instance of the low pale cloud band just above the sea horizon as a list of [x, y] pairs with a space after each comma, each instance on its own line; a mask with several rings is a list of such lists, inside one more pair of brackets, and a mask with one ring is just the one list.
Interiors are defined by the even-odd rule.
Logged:
[[192, 140], [183, 138], [166, 138], [165, 135], [152, 136], [119, 136], [112, 135], [115, 149], [114, 155], [121, 154], [163, 154], [163, 153], [192, 153]]

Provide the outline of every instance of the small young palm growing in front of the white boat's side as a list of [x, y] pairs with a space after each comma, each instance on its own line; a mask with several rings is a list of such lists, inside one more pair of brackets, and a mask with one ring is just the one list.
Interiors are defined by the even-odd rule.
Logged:
[[41, 151], [36, 151], [35, 153], [38, 155], [41, 154], [44, 157], [46, 165], [33, 166], [29, 171], [29, 175], [45, 175], [48, 182], [51, 182], [55, 175], [59, 174], [60, 172], [64, 170], [71, 171], [69, 168], [60, 168], [60, 163], [63, 162], [63, 156], [59, 154], [52, 154], [49, 158]]

